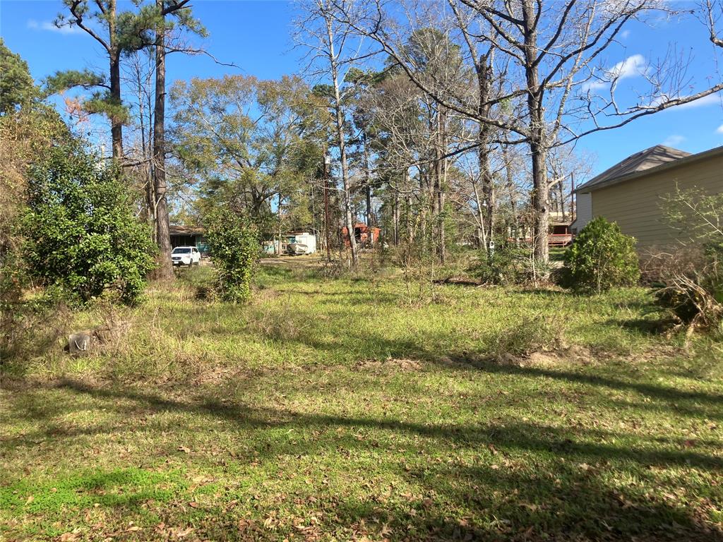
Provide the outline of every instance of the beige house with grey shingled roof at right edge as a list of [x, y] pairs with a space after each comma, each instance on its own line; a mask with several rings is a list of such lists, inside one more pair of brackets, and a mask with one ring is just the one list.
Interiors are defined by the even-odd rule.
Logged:
[[671, 227], [661, 204], [676, 184], [680, 189], [722, 193], [723, 147], [691, 155], [656, 145], [625, 158], [578, 187], [573, 233], [602, 216], [635, 237], [638, 249], [672, 244], [683, 233]]

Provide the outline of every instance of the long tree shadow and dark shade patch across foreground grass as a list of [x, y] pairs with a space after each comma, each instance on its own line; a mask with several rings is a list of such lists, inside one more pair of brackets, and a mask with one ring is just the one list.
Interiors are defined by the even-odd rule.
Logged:
[[[535, 423], [508, 421], [504, 425], [443, 426], [390, 420], [386, 418], [334, 416], [296, 413], [269, 408], [249, 408], [221, 402], [214, 397], [200, 397], [197, 403], [181, 403], [157, 395], [129, 390], [99, 390], [85, 384], [67, 381], [63, 387], [77, 393], [113, 400], [124, 397], [153, 405], [161, 410], [182, 410], [214, 416], [236, 423], [246, 429], [275, 427], [300, 430], [368, 429], [388, 434], [411, 434], [424, 439], [420, 452], [427, 447], [464, 447], [494, 450], [491, 465], [448, 465], [430, 463], [422, 457], [411, 468], [400, 469], [410, 482], [428, 489], [430, 497], [413, 496], [401, 505], [395, 504], [380, 513], [378, 503], [341, 502], [338, 520], [344, 525], [359, 525], [364, 516], [370, 521], [390, 522], [391, 528], [412, 539], [558, 540], [589, 538], [597, 540], [723, 540], [681, 504], [671, 504], [663, 496], [636, 494], [629, 488], [609, 486], [606, 473], [592, 465], [603, 465], [625, 471], [680, 465], [719, 471], [721, 458], [690, 450], [652, 449], [646, 439], [641, 447], [610, 444], [620, 435], [601, 430], [576, 430], [573, 435], [564, 429]], [[325, 434], [325, 433], [322, 433]], [[304, 453], [315, 455], [321, 449], [356, 447], [365, 452], [384, 454], [384, 442], [375, 439], [345, 438], [341, 443], [328, 437], [305, 443], [266, 442], [260, 450], [266, 457]], [[261, 446], [261, 445], [260, 445]], [[530, 465], [517, 465], [518, 457], [534, 454], [539, 471]], [[439, 497], [442, 496], [442, 499]], [[431, 500], [431, 502], [429, 502]], [[438, 502], [439, 501], [439, 502]], [[440, 502], [442, 504], [440, 504]], [[474, 511], [475, 522], [453, 517], [455, 510], [445, 509], [452, 502], [455, 509]], [[381, 507], [384, 509], [384, 507]], [[462, 518], [463, 519], [463, 518]], [[328, 525], [333, 528], [333, 525]]]

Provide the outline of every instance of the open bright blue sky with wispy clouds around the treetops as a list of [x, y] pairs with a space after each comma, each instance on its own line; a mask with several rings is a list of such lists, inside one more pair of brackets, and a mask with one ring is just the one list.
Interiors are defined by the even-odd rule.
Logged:
[[[209, 31], [205, 48], [238, 69], [219, 66], [198, 56], [175, 55], [168, 61], [168, 82], [190, 77], [218, 77], [228, 72], [261, 79], [299, 72], [301, 51], [293, 48], [294, 5], [285, 1], [194, 0], [194, 13]], [[122, 5], [121, 5], [122, 8]], [[61, 11], [60, 0], [0, 0], [0, 33], [7, 46], [30, 64], [36, 80], [59, 69], [105, 68], [106, 61], [90, 36], [80, 30], [59, 31], [52, 21]], [[604, 61], [629, 73], [621, 79], [620, 93], [632, 95], [644, 84], [636, 69], [654, 63], [671, 43], [688, 62], [688, 76], [696, 85], [690, 93], [722, 78], [723, 51], [716, 51], [696, 20], [659, 20], [652, 27], [633, 23], [620, 45], [607, 51]], [[627, 59], [627, 61], [626, 61]], [[598, 173], [626, 156], [656, 144], [700, 152], [723, 145], [723, 98], [711, 97], [693, 106], [665, 111], [622, 129], [593, 134], [578, 148], [596, 156]]]

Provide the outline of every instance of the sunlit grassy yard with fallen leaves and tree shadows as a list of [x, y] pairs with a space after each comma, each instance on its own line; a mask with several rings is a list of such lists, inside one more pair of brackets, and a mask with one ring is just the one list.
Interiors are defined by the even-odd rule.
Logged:
[[256, 283], [7, 367], [1, 540], [723, 540], [723, 347], [643, 289]]

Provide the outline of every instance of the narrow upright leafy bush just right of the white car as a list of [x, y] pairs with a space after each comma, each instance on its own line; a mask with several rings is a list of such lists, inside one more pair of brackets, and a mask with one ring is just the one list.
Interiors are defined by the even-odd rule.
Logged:
[[205, 220], [206, 240], [216, 268], [216, 288], [223, 301], [239, 303], [251, 295], [254, 262], [259, 255], [257, 228], [231, 210], [212, 212]]

